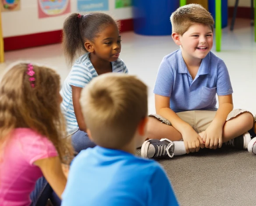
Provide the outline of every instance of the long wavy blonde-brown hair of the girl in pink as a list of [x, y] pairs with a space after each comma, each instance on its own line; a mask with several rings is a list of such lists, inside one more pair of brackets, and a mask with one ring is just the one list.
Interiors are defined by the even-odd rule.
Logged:
[[47, 137], [58, 151], [60, 160], [69, 163], [67, 157], [73, 155], [73, 150], [66, 137], [60, 110], [60, 76], [53, 69], [32, 66], [33, 82], [27, 74], [27, 63], [13, 66], [1, 80], [0, 149], [3, 151], [13, 129], [28, 127]]

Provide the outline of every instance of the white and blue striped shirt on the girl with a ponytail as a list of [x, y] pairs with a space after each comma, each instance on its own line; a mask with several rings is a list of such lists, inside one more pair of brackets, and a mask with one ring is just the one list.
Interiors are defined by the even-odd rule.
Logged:
[[[123, 63], [122, 59], [118, 58], [117, 61], [112, 61], [111, 63], [112, 72], [128, 73], [127, 67], [125, 66], [125, 63]], [[85, 53], [76, 59], [76, 62], [72, 66], [72, 69], [60, 90], [60, 94], [63, 98], [61, 108], [66, 118], [69, 135], [78, 130], [78, 122], [76, 121], [76, 115], [74, 112], [71, 86], [84, 88], [94, 77], [97, 77], [97, 71], [94, 69], [92, 62], [90, 61], [89, 53]]]

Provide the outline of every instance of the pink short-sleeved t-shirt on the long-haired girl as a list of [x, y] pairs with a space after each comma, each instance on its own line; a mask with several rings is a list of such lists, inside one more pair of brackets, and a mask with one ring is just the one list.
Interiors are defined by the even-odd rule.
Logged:
[[12, 134], [0, 154], [0, 205], [27, 206], [36, 180], [42, 176], [33, 162], [58, 153], [51, 141], [32, 129], [17, 128]]

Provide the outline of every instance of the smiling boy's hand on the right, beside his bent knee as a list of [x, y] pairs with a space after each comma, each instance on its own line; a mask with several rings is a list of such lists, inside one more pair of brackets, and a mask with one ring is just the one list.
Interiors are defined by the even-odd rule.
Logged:
[[211, 124], [206, 131], [204, 131], [203, 142], [206, 148], [217, 149], [222, 147], [222, 125]]

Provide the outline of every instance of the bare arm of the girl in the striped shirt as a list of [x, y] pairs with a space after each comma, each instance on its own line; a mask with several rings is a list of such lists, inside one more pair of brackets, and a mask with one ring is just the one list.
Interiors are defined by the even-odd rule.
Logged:
[[76, 121], [78, 121], [78, 127], [81, 131], [86, 131], [86, 123], [84, 122], [84, 116], [82, 114], [82, 108], [79, 102], [83, 88], [78, 86], [71, 86], [71, 87], [72, 87], [72, 99], [73, 99], [74, 111], [76, 115]]

